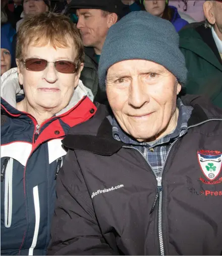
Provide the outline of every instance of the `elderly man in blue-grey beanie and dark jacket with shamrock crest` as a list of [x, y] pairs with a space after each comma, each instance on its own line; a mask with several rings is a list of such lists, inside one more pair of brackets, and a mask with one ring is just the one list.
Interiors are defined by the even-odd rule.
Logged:
[[63, 140], [49, 254], [221, 255], [222, 111], [181, 100], [186, 75], [170, 22], [141, 11], [110, 28], [99, 81], [112, 112]]

